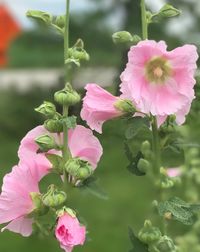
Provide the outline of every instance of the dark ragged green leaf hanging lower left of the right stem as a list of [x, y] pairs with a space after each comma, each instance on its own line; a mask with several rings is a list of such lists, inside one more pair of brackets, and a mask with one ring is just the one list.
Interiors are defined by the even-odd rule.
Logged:
[[133, 157], [133, 154], [127, 142], [124, 143], [124, 149], [125, 149], [125, 154], [128, 160], [130, 161], [129, 165], [127, 166], [128, 171], [130, 171], [136, 176], [144, 176], [146, 173], [138, 169], [138, 162], [141, 158], [143, 158], [142, 152], [139, 151], [138, 154], [135, 157]]

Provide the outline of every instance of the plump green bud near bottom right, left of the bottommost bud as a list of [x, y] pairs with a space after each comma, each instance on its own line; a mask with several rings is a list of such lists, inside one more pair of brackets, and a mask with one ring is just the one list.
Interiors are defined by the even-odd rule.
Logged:
[[153, 227], [151, 221], [146, 220], [144, 227], [139, 231], [138, 238], [141, 242], [151, 244], [161, 237], [159, 228]]

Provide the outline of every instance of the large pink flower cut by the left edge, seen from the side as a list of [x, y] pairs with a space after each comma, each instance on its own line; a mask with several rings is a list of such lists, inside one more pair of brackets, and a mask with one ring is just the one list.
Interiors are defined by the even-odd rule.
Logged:
[[23, 236], [31, 235], [33, 219], [28, 214], [34, 210], [34, 204], [30, 193], [39, 193], [41, 176], [40, 168], [30, 159], [29, 163], [13, 167], [4, 177], [0, 195], [0, 223], [10, 223], [2, 231], [8, 229]]

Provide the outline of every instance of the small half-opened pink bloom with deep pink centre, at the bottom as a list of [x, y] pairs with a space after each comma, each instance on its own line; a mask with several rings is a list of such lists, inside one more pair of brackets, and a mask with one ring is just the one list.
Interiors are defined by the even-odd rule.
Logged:
[[58, 219], [55, 235], [60, 247], [66, 252], [71, 252], [74, 246], [84, 244], [86, 228], [80, 225], [75, 215], [65, 212]]

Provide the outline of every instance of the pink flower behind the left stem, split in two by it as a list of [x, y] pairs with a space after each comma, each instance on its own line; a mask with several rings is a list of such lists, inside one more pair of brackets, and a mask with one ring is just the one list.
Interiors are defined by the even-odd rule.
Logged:
[[[18, 155], [22, 162], [32, 158], [35, 159], [40, 164], [41, 169], [44, 172], [48, 172], [52, 168], [52, 165], [44, 153], [37, 153], [38, 145], [35, 143], [37, 137], [45, 134], [53, 136], [57, 144], [62, 144], [62, 134], [52, 134], [44, 126], [38, 126], [22, 139]], [[79, 157], [82, 160], [88, 161], [94, 169], [103, 152], [99, 140], [93, 135], [92, 131], [81, 125], [77, 125], [75, 129], [69, 130], [68, 147], [72, 157]], [[55, 150], [48, 153], [61, 154]]]

